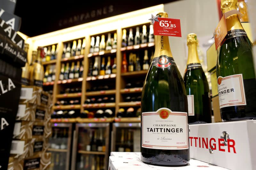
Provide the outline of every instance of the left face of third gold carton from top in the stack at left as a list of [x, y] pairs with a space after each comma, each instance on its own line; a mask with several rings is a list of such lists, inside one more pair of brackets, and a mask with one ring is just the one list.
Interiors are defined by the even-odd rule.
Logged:
[[15, 122], [13, 130], [14, 139], [32, 139], [32, 129], [34, 122], [18, 121]]

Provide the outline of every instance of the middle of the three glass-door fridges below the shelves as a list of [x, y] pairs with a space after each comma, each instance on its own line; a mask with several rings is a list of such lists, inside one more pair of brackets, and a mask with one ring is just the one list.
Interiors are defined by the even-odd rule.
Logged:
[[109, 127], [109, 123], [76, 124], [71, 169], [108, 169]]

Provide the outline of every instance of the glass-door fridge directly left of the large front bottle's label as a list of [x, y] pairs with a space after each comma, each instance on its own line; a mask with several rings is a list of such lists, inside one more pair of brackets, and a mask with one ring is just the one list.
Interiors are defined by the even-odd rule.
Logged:
[[113, 123], [111, 152], [140, 152], [140, 123]]

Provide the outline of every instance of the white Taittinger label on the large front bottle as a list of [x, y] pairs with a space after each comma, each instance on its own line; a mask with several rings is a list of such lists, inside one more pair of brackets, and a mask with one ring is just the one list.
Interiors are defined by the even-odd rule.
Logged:
[[188, 149], [188, 115], [160, 108], [143, 112], [141, 118], [142, 147], [150, 149]]

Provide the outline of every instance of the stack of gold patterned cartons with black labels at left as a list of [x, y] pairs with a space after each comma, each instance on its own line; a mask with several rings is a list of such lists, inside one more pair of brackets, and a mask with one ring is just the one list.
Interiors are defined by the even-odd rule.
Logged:
[[42, 170], [51, 164], [49, 137], [52, 96], [36, 86], [21, 87], [19, 109], [13, 131], [8, 169], [20, 164], [22, 169]]

